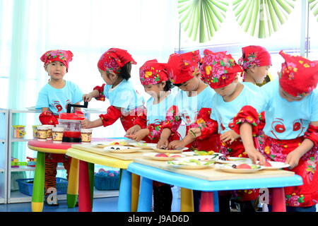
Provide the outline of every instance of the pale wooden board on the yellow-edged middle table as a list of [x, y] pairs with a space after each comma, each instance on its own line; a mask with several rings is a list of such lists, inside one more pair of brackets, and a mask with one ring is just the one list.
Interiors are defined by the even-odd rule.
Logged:
[[151, 153], [151, 150], [137, 150], [135, 153], [111, 153], [109, 150], [104, 150], [102, 148], [95, 148], [92, 144], [73, 144], [72, 148], [86, 150], [90, 153], [95, 153], [99, 155], [105, 155], [108, 157], [115, 157], [119, 160], [134, 160], [136, 157], [141, 157], [143, 153]]

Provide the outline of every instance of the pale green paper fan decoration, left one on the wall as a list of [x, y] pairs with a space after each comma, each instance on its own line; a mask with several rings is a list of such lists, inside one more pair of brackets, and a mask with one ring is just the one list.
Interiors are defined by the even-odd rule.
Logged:
[[211, 40], [220, 28], [227, 10], [227, 1], [178, 0], [179, 22], [194, 41]]

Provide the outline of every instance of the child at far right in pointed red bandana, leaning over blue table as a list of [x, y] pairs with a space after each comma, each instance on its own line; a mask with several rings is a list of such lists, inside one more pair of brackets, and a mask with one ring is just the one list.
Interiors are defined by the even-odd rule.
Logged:
[[[261, 87], [258, 101], [243, 107], [234, 119], [246, 153], [253, 162], [264, 156], [254, 148], [252, 133], [258, 130], [257, 112], [266, 112], [265, 143], [261, 152], [266, 160], [285, 162], [302, 177], [302, 186], [285, 187], [288, 211], [312, 211], [318, 201], [318, 61], [290, 56], [285, 59], [279, 79]], [[290, 112], [293, 112], [292, 114]], [[242, 126], [241, 126], [242, 124]], [[271, 202], [271, 201], [270, 201]]]

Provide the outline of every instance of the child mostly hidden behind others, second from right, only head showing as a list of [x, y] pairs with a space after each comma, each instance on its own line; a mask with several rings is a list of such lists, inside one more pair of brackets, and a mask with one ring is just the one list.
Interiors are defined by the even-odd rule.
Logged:
[[258, 90], [257, 84], [263, 83], [271, 66], [271, 55], [264, 47], [250, 45], [242, 48], [238, 64], [244, 69], [243, 84]]

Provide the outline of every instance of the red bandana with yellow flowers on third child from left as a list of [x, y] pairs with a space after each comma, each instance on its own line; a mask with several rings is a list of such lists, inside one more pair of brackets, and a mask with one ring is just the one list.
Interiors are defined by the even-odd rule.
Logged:
[[167, 64], [158, 63], [156, 59], [146, 61], [139, 69], [139, 76], [142, 85], [154, 85], [167, 81]]

